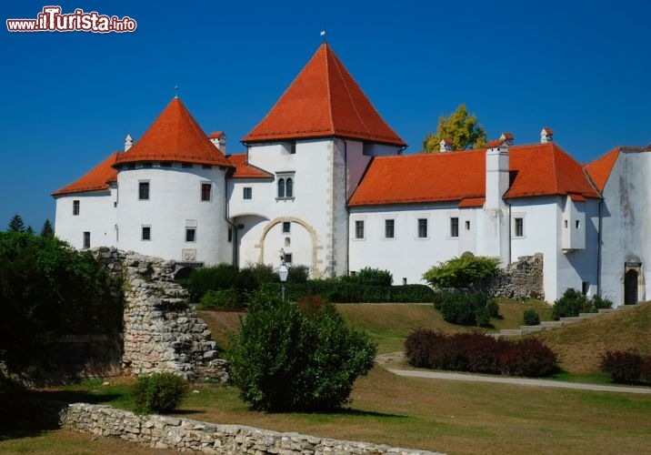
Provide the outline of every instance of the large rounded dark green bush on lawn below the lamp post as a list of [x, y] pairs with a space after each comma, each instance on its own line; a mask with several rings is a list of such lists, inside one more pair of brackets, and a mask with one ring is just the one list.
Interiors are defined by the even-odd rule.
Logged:
[[376, 345], [323, 299], [301, 306], [256, 292], [228, 350], [231, 379], [252, 409], [333, 410], [373, 368]]

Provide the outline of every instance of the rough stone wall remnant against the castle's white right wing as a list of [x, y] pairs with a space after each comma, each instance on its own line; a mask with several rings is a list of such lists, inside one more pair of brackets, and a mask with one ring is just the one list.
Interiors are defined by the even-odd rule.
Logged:
[[545, 299], [543, 288], [543, 255], [523, 256], [513, 262], [488, 286], [488, 293], [495, 297]]

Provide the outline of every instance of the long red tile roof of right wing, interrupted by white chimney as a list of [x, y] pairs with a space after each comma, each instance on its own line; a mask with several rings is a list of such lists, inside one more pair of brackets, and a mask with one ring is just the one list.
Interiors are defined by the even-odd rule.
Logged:
[[[598, 197], [583, 168], [555, 143], [509, 148], [515, 174], [505, 197], [575, 194]], [[477, 207], [486, 196], [486, 149], [376, 157], [349, 206], [460, 201]]]

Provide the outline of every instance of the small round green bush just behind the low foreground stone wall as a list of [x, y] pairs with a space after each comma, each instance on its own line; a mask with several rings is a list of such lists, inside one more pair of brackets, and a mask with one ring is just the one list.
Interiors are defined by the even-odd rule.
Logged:
[[161, 413], [175, 410], [186, 390], [185, 379], [168, 372], [154, 373], [138, 378], [131, 389], [131, 396], [137, 413]]

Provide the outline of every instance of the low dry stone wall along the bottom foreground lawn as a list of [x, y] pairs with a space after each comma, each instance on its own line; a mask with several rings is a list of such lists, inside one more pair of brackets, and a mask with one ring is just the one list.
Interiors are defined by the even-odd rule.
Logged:
[[329, 440], [242, 425], [220, 425], [157, 415], [141, 417], [126, 410], [85, 403], [71, 404], [62, 410], [60, 424], [65, 430], [121, 438], [155, 449], [195, 450], [213, 454], [426, 455], [436, 453], [366, 442]]

